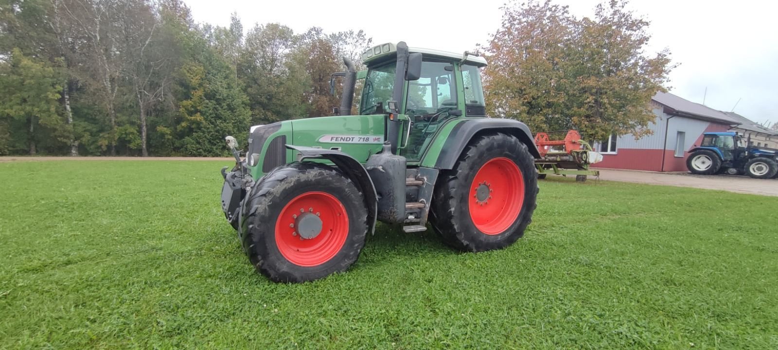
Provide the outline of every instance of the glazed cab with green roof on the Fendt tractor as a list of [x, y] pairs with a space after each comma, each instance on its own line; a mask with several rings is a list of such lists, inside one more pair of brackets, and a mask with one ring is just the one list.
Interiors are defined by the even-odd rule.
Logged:
[[[421, 160], [433, 135], [450, 119], [486, 117], [479, 71], [486, 60], [478, 54], [408, 47], [404, 63], [398, 60], [398, 47], [380, 44], [362, 58], [367, 72], [359, 114], [397, 114], [401, 125], [396, 149], [408, 162]], [[398, 79], [396, 72], [404, 71], [405, 79]]]

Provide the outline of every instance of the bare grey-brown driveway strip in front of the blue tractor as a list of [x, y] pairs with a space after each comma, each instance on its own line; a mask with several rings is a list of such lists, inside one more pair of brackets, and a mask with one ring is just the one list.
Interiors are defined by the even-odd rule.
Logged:
[[705, 188], [746, 194], [778, 196], [778, 180], [760, 180], [734, 175], [693, 175], [691, 173], [655, 173], [633, 170], [600, 170], [601, 180], [661, 184], [665, 186]]

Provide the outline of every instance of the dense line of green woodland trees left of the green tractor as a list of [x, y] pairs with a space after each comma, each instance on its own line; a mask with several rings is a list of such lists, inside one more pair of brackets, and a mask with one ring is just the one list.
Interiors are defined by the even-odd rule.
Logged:
[[372, 44], [180, 0], [0, 4], [0, 154], [222, 156], [251, 124], [331, 114], [331, 73]]

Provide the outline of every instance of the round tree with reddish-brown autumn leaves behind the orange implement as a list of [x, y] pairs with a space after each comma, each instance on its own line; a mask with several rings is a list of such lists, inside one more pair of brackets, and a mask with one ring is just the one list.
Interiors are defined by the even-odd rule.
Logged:
[[490, 114], [592, 139], [650, 132], [650, 99], [674, 66], [668, 51], [644, 53], [649, 22], [626, 4], [598, 5], [592, 19], [550, 0], [503, 8], [503, 26], [484, 47]]

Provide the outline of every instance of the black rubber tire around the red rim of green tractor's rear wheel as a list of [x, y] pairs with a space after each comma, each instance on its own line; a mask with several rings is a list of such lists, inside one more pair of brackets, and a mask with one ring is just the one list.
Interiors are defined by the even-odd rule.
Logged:
[[[517, 167], [522, 179], [521, 182], [517, 183], [524, 185], [524, 198], [513, 222], [510, 222], [509, 215], [505, 215], [508, 218], [505, 219], [506, 222], [510, 223], [507, 229], [487, 234], [478, 229], [474, 219], [471, 218], [469, 205], [471, 186], [475, 184], [476, 174], [486, 163], [494, 160], [504, 162], [513, 168], [511, 163], [508, 163], [512, 162]], [[536, 173], [534, 157], [531, 156], [527, 145], [520, 142], [518, 138], [502, 133], [474, 138], [462, 152], [454, 169], [446, 170], [440, 175], [430, 211], [433, 229], [442, 236], [445, 243], [459, 250], [475, 252], [509, 246], [524, 236], [524, 229], [527, 229], [527, 225], [532, 222], [532, 212], [537, 206], [535, 199], [538, 195]], [[505, 173], [502, 174], [505, 175]], [[478, 184], [479, 188], [480, 186], [481, 184]], [[485, 193], [489, 194], [491, 190]], [[489, 198], [492, 198], [491, 194], [489, 194]], [[473, 199], [473, 201], [475, 200]], [[485, 204], [489, 204], [488, 200]], [[499, 202], [496, 204], [500, 205]], [[499, 218], [495, 221], [499, 221]]]

